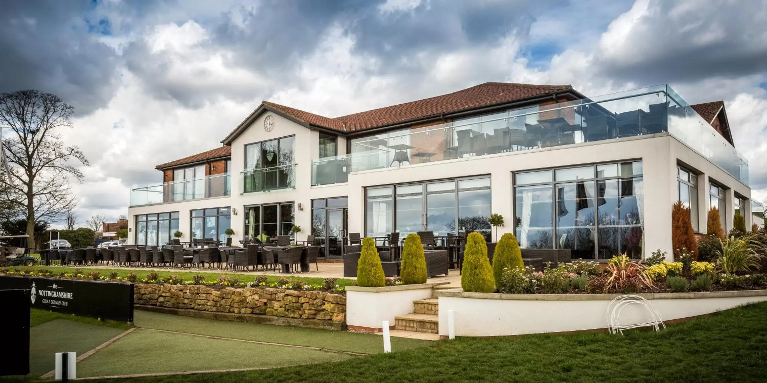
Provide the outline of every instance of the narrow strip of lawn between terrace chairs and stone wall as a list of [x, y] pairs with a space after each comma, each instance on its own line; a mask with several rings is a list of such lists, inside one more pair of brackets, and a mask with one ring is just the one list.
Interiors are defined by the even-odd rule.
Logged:
[[[117, 273], [118, 277], [127, 277], [130, 273], [136, 273], [138, 279], [146, 278], [146, 274], [149, 273], [157, 273], [160, 278], [167, 278], [171, 275], [175, 275], [176, 277], [179, 277], [183, 280], [192, 280], [192, 276], [196, 274], [204, 275], [206, 280], [216, 280], [218, 279], [219, 275], [226, 275], [232, 278], [239, 278], [243, 282], [252, 282], [255, 279], [256, 274], [244, 274], [244, 273], [209, 273], [207, 271], [197, 271], [197, 270], [180, 270], [180, 269], [173, 269], [173, 270], [146, 270], [146, 269], [117, 269], [117, 268], [110, 268], [110, 267], [103, 267], [103, 268], [89, 268], [89, 267], [61, 267], [61, 266], [34, 266], [34, 267], [12, 267], [12, 270], [28, 270], [28, 269], [37, 269], [37, 270], [51, 270], [54, 273], [74, 273], [74, 270], [80, 269], [83, 270], [84, 273], [89, 273], [91, 271], [98, 271], [102, 275], [107, 276], [107, 274], [115, 272]], [[204, 270], [204, 269], [203, 269]], [[278, 278], [282, 277], [280, 275], [269, 275], [268, 276], [268, 283], [274, 283], [277, 282]], [[289, 279], [297, 279], [297, 280], [303, 280], [306, 283], [309, 284], [315, 284], [315, 285], [321, 285], [324, 282], [324, 278], [319, 277], [292, 277], [289, 276]], [[337, 284], [339, 286], [349, 286], [354, 284], [354, 280], [344, 279], [344, 278], [338, 278]]]

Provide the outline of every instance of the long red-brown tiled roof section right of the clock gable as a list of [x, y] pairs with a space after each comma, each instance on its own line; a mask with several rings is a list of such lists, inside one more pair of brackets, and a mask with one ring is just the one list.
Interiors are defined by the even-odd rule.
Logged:
[[349, 114], [336, 118], [319, 116], [264, 101], [263, 104], [287, 113], [296, 119], [315, 126], [322, 126], [341, 132], [356, 132], [359, 130], [387, 126], [396, 123], [407, 123], [415, 119], [439, 116], [446, 113], [456, 113], [472, 110], [482, 106], [492, 106], [509, 103], [529, 97], [543, 96], [549, 93], [571, 90], [569, 85], [531, 85], [527, 83], [480, 83], [474, 87], [459, 90], [442, 96], [430, 97], [423, 100], [400, 103], [380, 109]]

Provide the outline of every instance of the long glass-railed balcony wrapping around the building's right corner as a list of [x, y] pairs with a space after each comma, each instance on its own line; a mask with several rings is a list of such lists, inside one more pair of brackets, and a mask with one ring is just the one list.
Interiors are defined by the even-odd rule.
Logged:
[[744, 185], [749, 163], [667, 85], [505, 111], [351, 141], [351, 155], [315, 160], [312, 185], [347, 172], [670, 133]]

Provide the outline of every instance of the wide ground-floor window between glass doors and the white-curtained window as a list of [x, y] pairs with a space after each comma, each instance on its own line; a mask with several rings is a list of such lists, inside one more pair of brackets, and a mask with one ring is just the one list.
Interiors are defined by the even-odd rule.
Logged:
[[367, 188], [366, 235], [477, 231], [490, 240], [490, 178], [459, 178]]

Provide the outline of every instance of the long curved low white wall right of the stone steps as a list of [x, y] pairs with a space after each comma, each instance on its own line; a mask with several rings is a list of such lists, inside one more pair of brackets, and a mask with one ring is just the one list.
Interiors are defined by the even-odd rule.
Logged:
[[[447, 312], [454, 311], [456, 336], [511, 336], [607, 328], [607, 306], [619, 294], [499, 294], [436, 292], [439, 335], [448, 335]], [[767, 290], [640, 294], [663, 320], [687, 318], [767, 300]], [[650, 320], [639, 305], [621, 312], [621, 324]]]

